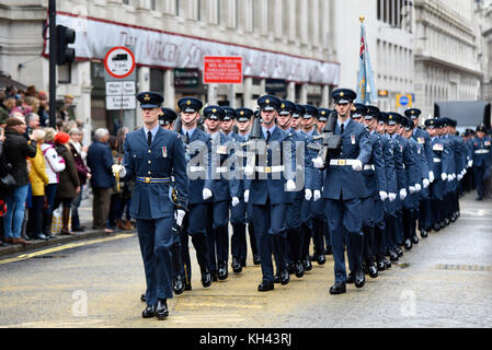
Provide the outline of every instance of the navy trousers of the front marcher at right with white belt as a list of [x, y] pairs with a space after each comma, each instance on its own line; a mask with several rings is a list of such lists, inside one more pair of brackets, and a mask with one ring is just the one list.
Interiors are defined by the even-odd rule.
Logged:
[[[335, 282], [346, 282], [344, 246], [353, 270], [362, 268], [362, 203], [361, 199], [325, 199], [325, 215], [333, 247]], [[348, 248], [350, 247], [350, 248]]]

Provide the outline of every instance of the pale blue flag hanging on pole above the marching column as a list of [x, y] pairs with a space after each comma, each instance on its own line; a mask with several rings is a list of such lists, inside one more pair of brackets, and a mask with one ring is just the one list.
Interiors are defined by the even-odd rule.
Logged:
[[377, 95], [374, 85], [369, 50], [367, 47], [366, 26], [364, 25], [364, 20], [361, 19], [361, 52], [357, 79], [357, 100], [355, 102], [369, 105], [376, 103], [376, 101]]

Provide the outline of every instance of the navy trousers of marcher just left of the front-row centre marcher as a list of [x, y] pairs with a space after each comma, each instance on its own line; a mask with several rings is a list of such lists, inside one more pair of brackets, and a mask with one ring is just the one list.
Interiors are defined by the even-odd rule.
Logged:
[[232, 257], [245, 262], [248, 246], [245, 236], [247, 205], [241, 200], [236, 207], [230, 208], [230, 223], [232, 235], [230, 238], [230, 249]]

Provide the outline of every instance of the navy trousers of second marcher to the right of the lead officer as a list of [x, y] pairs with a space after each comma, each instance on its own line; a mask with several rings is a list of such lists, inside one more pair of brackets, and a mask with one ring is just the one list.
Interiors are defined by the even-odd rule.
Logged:
[[229, 201], [208, 203], [207, 242], [209, 267], [216, 271], [220, 262], [229, 260]]

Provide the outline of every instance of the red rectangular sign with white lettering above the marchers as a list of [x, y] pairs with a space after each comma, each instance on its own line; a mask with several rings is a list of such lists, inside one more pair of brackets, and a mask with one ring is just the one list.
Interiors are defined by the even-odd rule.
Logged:
[[205, 56], [204, 84], [242, 84], [242, 57]]

